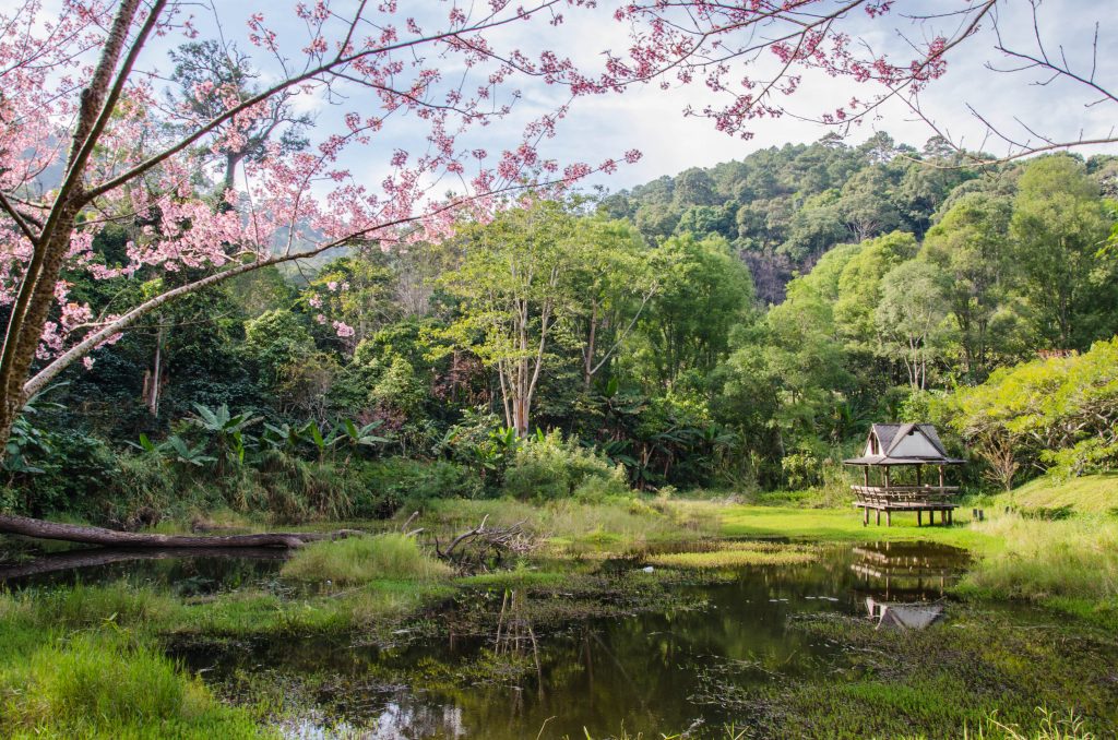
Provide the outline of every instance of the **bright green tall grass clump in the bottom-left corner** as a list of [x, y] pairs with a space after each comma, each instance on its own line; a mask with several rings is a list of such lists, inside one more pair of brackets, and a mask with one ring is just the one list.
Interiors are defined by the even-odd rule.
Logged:
[[0, 734], [253, 738], [247, 713], [125, 633], [80, 633], [0, 667]]

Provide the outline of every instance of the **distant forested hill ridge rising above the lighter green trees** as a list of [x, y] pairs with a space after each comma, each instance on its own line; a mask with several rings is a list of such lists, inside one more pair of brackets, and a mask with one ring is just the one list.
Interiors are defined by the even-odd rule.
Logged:
[[[966, 164], [972, 159], [940, 139], [917, 149], [887, 133], [856, 145], [831, 134], [662, 177], [601, 207], [654, 243], [684, 233], [724, 237], [749, 265], [764, 305], [781, 302], [793, 275], [835, 245], [893, 230], [922, 239], [965, 193], [1012, 192], [1018, 165], [978, 168]], [[1103, 195], [1118, 193], [1118, 158], [1091, 158], [1087, 169]]]

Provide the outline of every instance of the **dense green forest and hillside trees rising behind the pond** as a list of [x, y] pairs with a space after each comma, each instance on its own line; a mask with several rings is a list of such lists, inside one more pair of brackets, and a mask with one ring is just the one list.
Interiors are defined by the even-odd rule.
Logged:
[[[126, 524], [802, 487], [893, 419], [953, 429], [985, 461], [973, 483], [1106, 469], [1118, 162], [957, 164], [936, 141], [828, 137], [246, 275], [32, 399], [2, 503]], [[94, 248], [111, 260], [126, 231]], [[105, 310], [163, 279], [72, 290]]]

